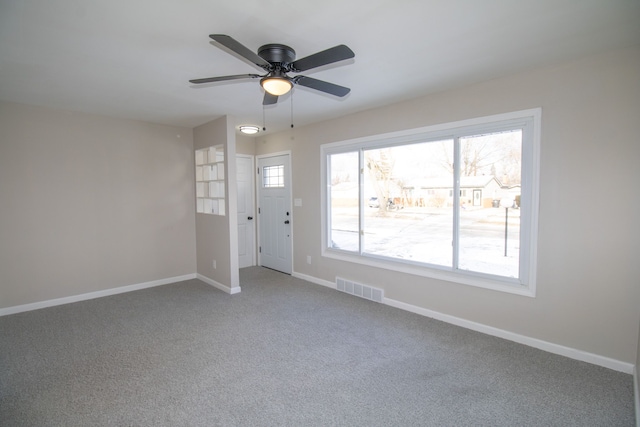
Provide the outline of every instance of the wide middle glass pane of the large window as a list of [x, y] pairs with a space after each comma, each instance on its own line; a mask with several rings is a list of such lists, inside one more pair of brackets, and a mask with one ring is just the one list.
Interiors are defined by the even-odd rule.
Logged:
[[364, 151], [363, 252], [452, 265], [453, 141]]

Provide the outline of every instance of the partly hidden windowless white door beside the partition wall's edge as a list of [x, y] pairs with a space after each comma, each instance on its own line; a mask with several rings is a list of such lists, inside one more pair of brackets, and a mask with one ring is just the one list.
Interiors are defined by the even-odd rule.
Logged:
[[238, 186], [238, 267], [255, 262], [255, 209], [253, 203], [253, 157], [236, 157]]

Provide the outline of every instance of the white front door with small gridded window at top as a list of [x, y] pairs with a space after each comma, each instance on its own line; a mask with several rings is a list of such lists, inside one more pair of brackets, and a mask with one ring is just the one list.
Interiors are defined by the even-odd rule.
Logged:
[[258, 159], [260, 265], [291, 274], [291, 178], [289, 154]]

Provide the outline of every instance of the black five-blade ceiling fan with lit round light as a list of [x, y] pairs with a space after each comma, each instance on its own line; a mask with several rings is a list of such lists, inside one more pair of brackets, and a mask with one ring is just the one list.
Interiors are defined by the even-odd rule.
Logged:
[[294, 84], [325, 92], [331, 95], [343, 97], [351, 89], [339, 86], [323, 80], [307, 76], [289, 77], [287, 73], [300, 73], [312, 68], [332, 64], [334, 62], [353, 58], [355, 54], [345, 45], [338, 45], [322, 52], [314, 53], [302, 59], [296, 59], [296, 52], [283, 44], [266, 44], [258, 49], [255, 54], [243, 44], [224, 34], [211, 34], [214, 41], [238, 54], [252, 64], [266, 71], [266, 74], [236, 74], [232, 76], [208, 77], [204, 79], [189, 80], [190, 83], [213, 83], [226, 80], [260, 79], [260, 85], [265, 90], [262, 105], [271, 105], [278, 102], [278, 97], [291, 90]]

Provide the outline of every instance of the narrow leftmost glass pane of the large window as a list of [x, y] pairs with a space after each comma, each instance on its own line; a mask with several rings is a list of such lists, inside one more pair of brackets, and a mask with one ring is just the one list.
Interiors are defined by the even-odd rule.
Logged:
[[359, 251], [359, 172], [358, 153], [329, 156], [331, 203], [330, 247]]

